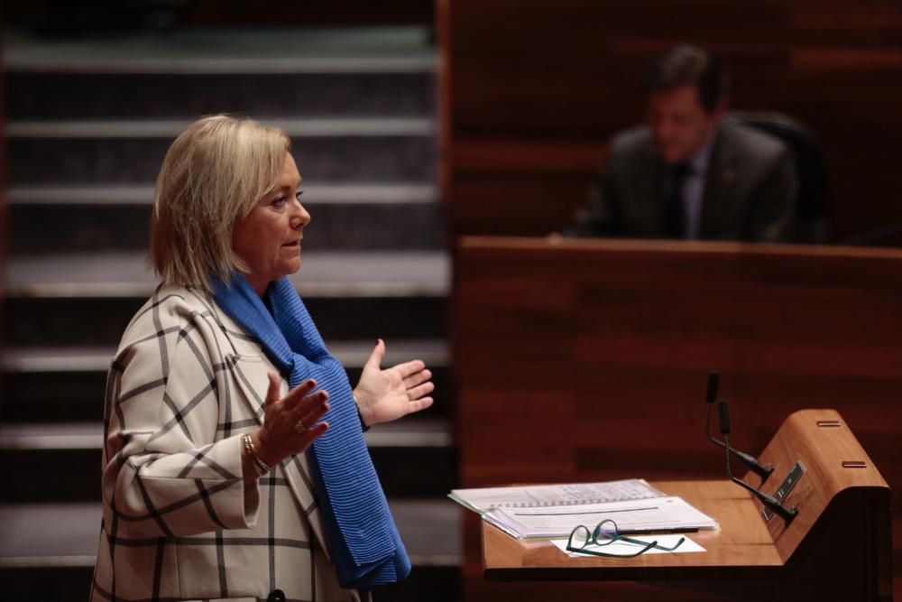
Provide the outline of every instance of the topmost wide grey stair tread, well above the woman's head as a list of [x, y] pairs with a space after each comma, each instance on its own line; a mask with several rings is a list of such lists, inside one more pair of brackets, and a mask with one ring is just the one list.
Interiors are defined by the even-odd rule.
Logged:
[[425, 26], [182, 29], [47, 43], [5, 32], [5, 69], [108, 73], [411, 72], [434, 70]]

